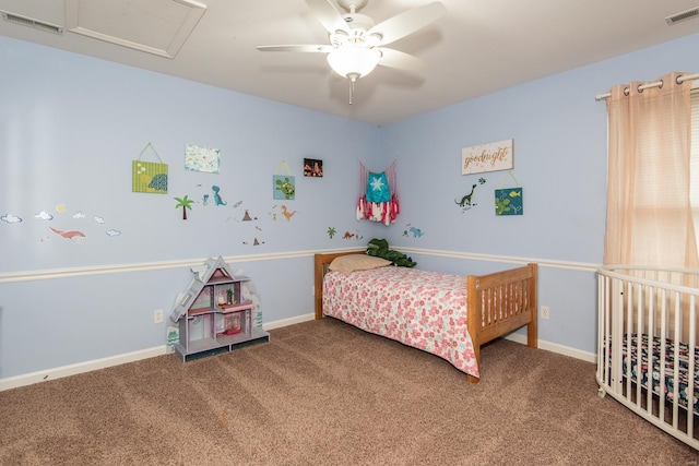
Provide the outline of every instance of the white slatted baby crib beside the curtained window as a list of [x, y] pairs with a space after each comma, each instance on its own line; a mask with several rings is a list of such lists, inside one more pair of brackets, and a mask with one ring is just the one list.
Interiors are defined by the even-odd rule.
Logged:
[[600, 396], [699, 450], [699, 271], [604, 266], [597, 282]]

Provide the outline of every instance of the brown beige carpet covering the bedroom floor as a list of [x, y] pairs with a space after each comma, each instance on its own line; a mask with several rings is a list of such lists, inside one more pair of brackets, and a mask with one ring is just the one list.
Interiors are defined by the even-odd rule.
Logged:
[[496, 340], [481, 383], [332, 319], [0, 392], [1, 465], [688, 465], [594, 365]]

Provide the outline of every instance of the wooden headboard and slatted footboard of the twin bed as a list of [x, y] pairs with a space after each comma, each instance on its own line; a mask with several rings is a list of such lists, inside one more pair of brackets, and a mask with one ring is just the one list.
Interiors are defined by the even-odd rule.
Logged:
[[[323, 276], [330, 263], [340, 255], [365, 254], [365, 250], [316, 254], [316, 319], [323, 316]], [[469, 333], [476, 361], [481, 367], [481, 346], [528, 326], [528, 346], [536, 348], [536, 264], [487, 275], [469, 275]], [[476, 383], [478, 378], [467, 375]]]

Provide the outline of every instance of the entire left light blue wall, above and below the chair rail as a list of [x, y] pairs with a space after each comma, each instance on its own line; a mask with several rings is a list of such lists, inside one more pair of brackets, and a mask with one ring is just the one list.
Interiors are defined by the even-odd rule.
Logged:
[[[313, 310], [311, 256], [280, 254], [364, 247], [377, 228], [355, 218], [375, 126], [9, 38], [0, 63], [0, 379], [163, 345], [153, 311], [169, 314], [191, 279], [188, 266], [13, 282], [20, 273], [265, 254], [232, 266], [274, 322]], [[149, 142], [169, 165], [165, 195], [131, 192]], [[186, 144], [220, 150], [221, 172], [185, 171]], [[304, 157], [322, 159], [324, 177], [304, 178]], [[296, 176], [288, 202], [272, 196], [283, 159]], [[213, 184], [227, 205], [203, 205]], [[183, 222], [174, 198], [186, 194], [197, 203]], [[297, 212], [288, 222], [282, 204]]]

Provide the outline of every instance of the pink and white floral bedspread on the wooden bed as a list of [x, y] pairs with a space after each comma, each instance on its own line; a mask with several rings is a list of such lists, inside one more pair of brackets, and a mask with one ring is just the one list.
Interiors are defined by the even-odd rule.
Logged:
[[479, 377], [466, 332], [466, 279], [407, 267], [329, 272], [323, 313], [419, 348]]

